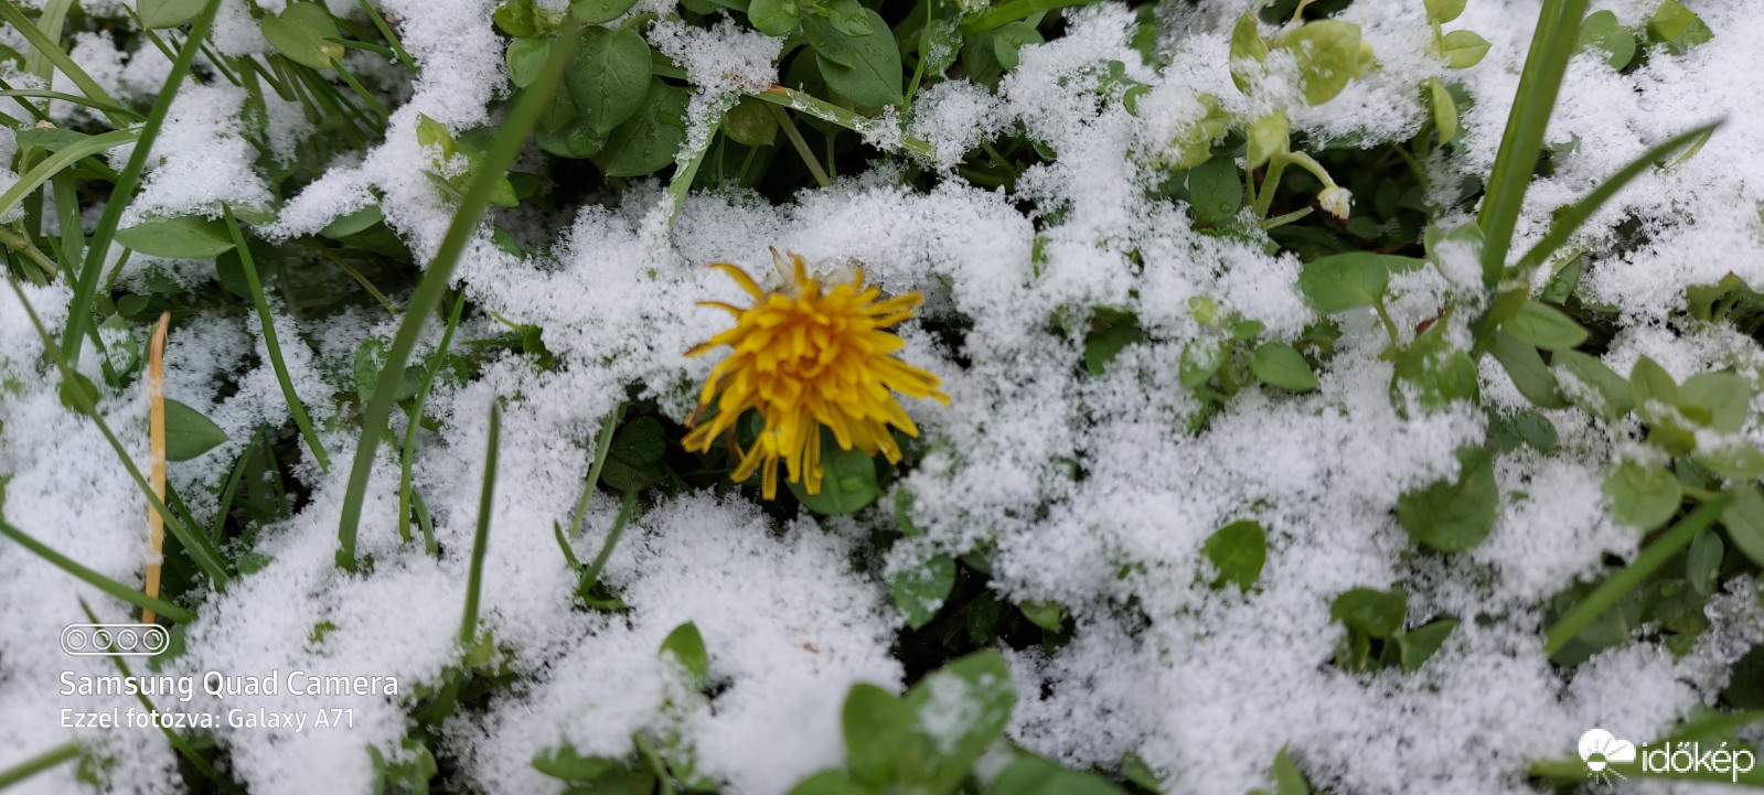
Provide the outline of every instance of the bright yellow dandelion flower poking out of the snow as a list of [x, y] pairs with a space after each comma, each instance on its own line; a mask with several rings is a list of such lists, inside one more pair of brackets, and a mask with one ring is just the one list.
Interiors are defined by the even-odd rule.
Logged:
[[[850, 282], [822, 289], [818, 279], [808, 277], [801, 256], [792, 254], [787, 266], [773, 249], [773, 263], [789, 282], [773, 291], [760, 289], [736, 264], [711, 264], [741, 284], [753, 305], [700, 301], [736, 316], [736, 328], [686, 351], [686, 356], [699, 356], [721, 345], [734, 349], [711, 370], [699, 395], [699, 411], [686, 423], [693, 428], [686, 434], [686, 450], [709, 451], [744, 411], [759, 411], [766, 427], [751, 448], [736, 446], [739, 464], [732, 478], [744, 481], [764, 467], [766, 499], [778, 494], [780, 458], [790, 483], [820, 494], [822, 428], [833, 432], [841, 450], [880, 451], [889, 462], [900, 462], [889, 427], [914, 437], [919, 427], [894, 400], [894, 391], [949, 405], [937, 375], [894, 358], [905, 342], [884, 331], [914, 316], [917, 293], [878, 300], [882, 291], [864, 286], [863, 270]], [[700, 425], [713, 405], [716, 414]]]

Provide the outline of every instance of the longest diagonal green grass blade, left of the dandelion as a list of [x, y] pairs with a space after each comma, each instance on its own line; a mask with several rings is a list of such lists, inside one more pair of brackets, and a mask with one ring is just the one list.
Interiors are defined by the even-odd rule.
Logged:
[[478, 173], [466, 189], [459, 210], [453, 212], [453, 224], [448, 226], [446, 238], [441, 240], [436, 259], [429, 263], [422, 282], [416, 284], [409, 303], [404, 305], [404, 321], [399, 323], [399, 333], [392, 338], [392, 349], [386, 351], [386, 363], [379, 372], [379, 384], [374, 386], [374, 395], [369, 398], [367, 412], [362, 418], [362, 441], [355, 448], [349, 488], [342, 497], [342, 520], [337, 524], [337, 566], [348, 571], [355, 571], [355, 534], [362, 524], [362, 502], [367, 499], [367, 476], [374, 469], [374, 450], [379, 446], [379, 435], [386, 430], [386, 420], [392, 416], [392, 398], [395, 397], [399, 381], [404, 377], [404, 365], [411, 360], [411, 351], [423, 331], [423, 323], [436, 310], [436, 305], [441, 303], [441, 293], [446, 291], [448, 280], [453, 279], [453, 266], [459, 264], [459, 256], [466, 250], [466, 243], [471, 241], [473, 234], [476, 234], [478, 219], [490, 206], [490, 192], [503, 180], [503, 171], [508, 171], [508, 166], [515, 162], [515, 155], [526, 145], [527, 134], [533, 132], [533, 125], [540, 120], [540, 113], [550, 106], [552, 92], [557, 90], [557, 83], [563, 79], [563, 67], [575, 55], [575, 42], [580, 35], [580, 23], [568, 23], [554, 42], [538, 79], [515, 100], [515, 108], [503, 122], [503, 129], [490, 141], [490, 150], [478, 162]]

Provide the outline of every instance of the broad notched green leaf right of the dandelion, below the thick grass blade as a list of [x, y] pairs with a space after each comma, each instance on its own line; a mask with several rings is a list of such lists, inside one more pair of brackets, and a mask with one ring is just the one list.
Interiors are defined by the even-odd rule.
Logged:
[[1457, 450], [1457, 479], [1441, 479], [1397, 497], [1397, 522], [1409, 538], [1439, 552], [1482, 543], [1499, 513], [1494, 457], [1480, 446]]

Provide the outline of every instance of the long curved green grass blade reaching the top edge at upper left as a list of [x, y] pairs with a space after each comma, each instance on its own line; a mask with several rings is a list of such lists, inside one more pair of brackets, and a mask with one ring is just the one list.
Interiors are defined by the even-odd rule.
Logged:
[[[11, 4], [0, 2], [0, 7], [11, 7]], [[92, 296], [97, 293], [99, 271], [104, 268], [104, 256], [109, 254], [111, 238], [116, 236], [116, 224], [122, 220], [122, 212], [129, 204], [129, 197], [134, 196], [134, 189], [141, 183], [141, 171], [146, 169], [146, 159], [153, 152], [153, 141], [159, 139], [159, 129], [164, 127], [166, 115], [171, 113], [171, 102], [178, 97], [183, 78], [191, 74], [196, 48], [208, 37], [208, 28], [213, 26], [215, 9], [219, 7], [220, 0], [208, 0], [203, 5], [203, 12], [191, 23], [191, 35], [178, 48], [178, 60], [171, 63], [171, 74], [166, 76], [159, 97], [153, 99], [153, 108], [146, 113], [146, 123], [141, 125], [141, 139], [129, 155], [129, 166], [116, 175], [116, 185], [111, 189], [109, 201], [104, 203], [99, 226], [92, 231], [86, 263], [79, 271], [79, 280], [74, 284], [74, 300], [67, 308], [67, 328], [62, 330], [62, 358], [65, 360], [79, 356], [79, 338], [86, 333], [86, 323], [92, 321]], [[86, 93], [90, 95], [90, 92]], [[109, 97], [93, 99], [116, 104]]]

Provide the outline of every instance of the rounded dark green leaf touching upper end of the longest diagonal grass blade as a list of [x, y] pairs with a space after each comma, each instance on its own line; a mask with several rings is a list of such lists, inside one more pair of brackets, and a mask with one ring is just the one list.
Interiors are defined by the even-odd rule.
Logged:
[[[563, 76], [563, 85], [570, 92], [577, 115], [586, 118], [596, 132], [607, 134], [624, 120], [633, 118], [639, 108], [647, 104], [653, 111], [658, 100], [656, 83], [660, 81], [651, 83], [649, 71], [649, 42], [639, 32], [632, 28], [587, 28], [575, 51], [575, 60]], [[679, 148], [677, 141], [674, 148]], [[674, 160], [674, 148], [667, 152], [669, 162]], [[647, 175], [656, 167], [639, 173]]]

